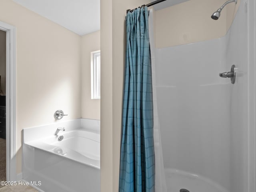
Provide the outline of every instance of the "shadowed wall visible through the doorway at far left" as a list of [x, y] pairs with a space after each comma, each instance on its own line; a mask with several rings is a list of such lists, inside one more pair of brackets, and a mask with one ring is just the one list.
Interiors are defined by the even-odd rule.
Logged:
[[1, 95], [6, 95], [6, 32], [0, 30]]

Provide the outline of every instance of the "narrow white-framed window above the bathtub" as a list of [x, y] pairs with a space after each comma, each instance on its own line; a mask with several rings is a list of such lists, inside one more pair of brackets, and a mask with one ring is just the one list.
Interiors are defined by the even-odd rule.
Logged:
[[100, 99], [100, 50], [91, 52], [91, 98]]

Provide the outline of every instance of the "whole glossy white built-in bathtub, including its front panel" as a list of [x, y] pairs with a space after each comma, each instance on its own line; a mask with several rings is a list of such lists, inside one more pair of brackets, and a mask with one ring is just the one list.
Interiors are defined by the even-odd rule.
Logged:
[[44, 192], [100, 192], [99, 127], [77, 119], [24, 129], [23, 179], [40, 181]]

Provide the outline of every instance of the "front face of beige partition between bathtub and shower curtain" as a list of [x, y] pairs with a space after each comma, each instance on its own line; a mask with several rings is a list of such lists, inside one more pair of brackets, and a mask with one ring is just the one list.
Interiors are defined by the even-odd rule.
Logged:
[[[100, 188], [113, 190], [112, 0], [100, 0]], [[122, 65], [122, 62], [120, 63]], [[118, 139], [118, 138], [116, 138]], [[114, 179], [113, 179], [114, 178]]]

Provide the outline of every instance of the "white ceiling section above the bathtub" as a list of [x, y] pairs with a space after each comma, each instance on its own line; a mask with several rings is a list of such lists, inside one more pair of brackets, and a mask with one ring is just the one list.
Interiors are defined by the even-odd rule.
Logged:
[[100, 30], [100, 0], [13, 0], [78, 35]]

